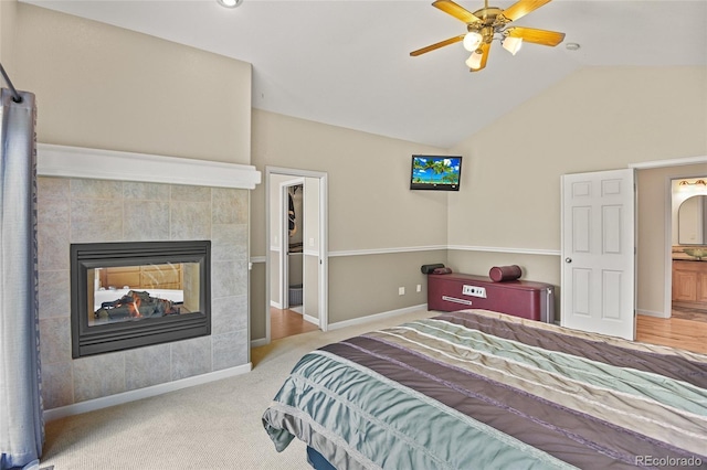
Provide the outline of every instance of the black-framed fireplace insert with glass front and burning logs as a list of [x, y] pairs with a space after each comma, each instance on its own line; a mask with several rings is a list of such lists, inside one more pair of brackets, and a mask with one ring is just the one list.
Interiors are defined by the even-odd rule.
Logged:
[[210, 241], [72, 244], [72, 356], [211, 334], [210, 279]]

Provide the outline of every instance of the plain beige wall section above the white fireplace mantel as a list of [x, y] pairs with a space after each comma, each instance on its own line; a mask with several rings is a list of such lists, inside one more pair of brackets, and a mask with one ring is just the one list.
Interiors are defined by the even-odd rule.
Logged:
[[14, 39], [40, 142], [250, 163], [250, 64], [25, 3]]

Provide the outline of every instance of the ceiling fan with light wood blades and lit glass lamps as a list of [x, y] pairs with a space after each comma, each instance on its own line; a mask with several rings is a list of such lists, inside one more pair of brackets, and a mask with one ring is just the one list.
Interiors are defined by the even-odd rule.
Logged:
[[432, 3], [432, 7], [439, 8], [457, 20], [465, 22], [467, 33], [419, 49], [411, 52], [410, 55], [414, 57], [462, 41], [464, 47], [472, 52], [472, 55], [466, 60], [466, 65], [471, 72], [478, 72], [486, 66], [488, 51], [494, 39], [499, 39], [503, 47], [514, 55], [518, 52], [524, 41], [556, 46], [562, 42], [564, 33], [508, 25], [510, 22], [525, 17], [550, 1], [519, 0], [503, 10], [496, 7], [488, 7], [488, 0], [485, 0], [484, 8], [472, 13], [452, 0], [436, 0]]

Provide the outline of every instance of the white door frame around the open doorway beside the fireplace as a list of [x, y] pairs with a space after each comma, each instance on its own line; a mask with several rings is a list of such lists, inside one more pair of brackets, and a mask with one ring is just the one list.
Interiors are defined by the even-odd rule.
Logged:
[[[328, 258], [328, 174], [323, 171], [303, 170], [295, 168], [283, 167], [265, 167], [265, 237], [267, 256], [265, 256], [265, 343], [271, 342], [271, 324], [270, 324], [270, 299], [271, 299], [271, 241], [272, 231], [271, 227], [271, 211], [273, 201], [271, 201], [271, 177], [273, 174], [281, 174], [285, 177], [296, 178], [315, 178], [319, 180], [319, 269], [318, 269], [318, 305], [319, 305], [319, 329], [327, 331], [329, 325], [329, 311], [328, 311], [328, 298], [329, 298], [329, 258]], [[282, 193], [278, 192], [282, 195]], [[281, 197], [282, 199], [282, 197]], [[279, 236], [282, 241], [282, 234]], [[283, 242], [281, 242], [283, 243]], [[282, 246], [282, 245], [281, 245]], [[303, 255], [304, 256], [304, 255]]]

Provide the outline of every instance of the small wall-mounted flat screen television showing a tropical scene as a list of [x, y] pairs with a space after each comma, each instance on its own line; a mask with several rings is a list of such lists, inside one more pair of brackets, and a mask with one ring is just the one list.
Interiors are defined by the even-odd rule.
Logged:
[[458, 191], [462, 157], [412, 156], [411, 190]]

